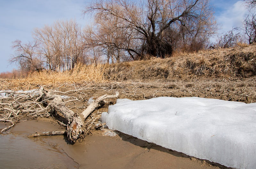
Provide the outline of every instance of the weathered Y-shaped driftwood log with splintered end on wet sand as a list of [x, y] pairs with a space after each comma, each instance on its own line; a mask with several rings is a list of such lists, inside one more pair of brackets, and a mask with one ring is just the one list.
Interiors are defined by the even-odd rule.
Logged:
[[[71, 142], [76, 142], [76, 140], [80, 137], [80, 135], [84, 134], [85, 129], [85, 119], [95, 110], [96, 108], [102, 106], [104, 104], [105, 99], [109, 98], [116, 98], [118, 97], [119, 93], [116, 92], [116, 95], [103, 95], [98, 99], [94, 100], [83, 112], [82, 114], [78, 114], [73, 112], [72, 110], [68, 109], [60, 95], [52, 94], [52, 92], [47, 92], [41, 87], [38, 91], [39, 99], [45, 100], [48, 104], [50, 109], [54, 109], [59, 111], [67, 120], [67, 135], [68, 139]], [[58, 133], [57, 131], [55, 131]], [[50, 134], [47, 135], [54, 135], [54, 131], [49, 132]], [[63, 133], [64, 134], [64, 133]], [[30, 137], [38, 136], [38, 134], [31, 135]]]

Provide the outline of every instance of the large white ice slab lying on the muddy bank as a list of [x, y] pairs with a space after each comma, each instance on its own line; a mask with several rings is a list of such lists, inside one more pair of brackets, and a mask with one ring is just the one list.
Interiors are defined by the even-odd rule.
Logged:
[[198, 97], [117, 99], [108, 128], [234, 168], [256, 167], [256, 103]]

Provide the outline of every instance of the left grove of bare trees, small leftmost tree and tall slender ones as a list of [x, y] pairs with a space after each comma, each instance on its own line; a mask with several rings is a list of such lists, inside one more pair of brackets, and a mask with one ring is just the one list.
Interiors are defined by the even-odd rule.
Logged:
[[27, 71], [72, 69], [78, 62], [87, 63], [83, 32], [75, 20], [57, 21], [35, 28], [33, 42], [13, 42], [15, 54], [10, 62]]

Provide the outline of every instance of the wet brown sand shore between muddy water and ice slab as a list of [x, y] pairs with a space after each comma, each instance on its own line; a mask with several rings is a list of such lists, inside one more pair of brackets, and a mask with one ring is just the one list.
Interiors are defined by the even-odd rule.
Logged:
[[[73, 164], [71, 168], [191, 168], [191, 169], [205, 169], [205, 168], [228, 168], [223, 165], [212, 163], [207, 160], [202, 160], [190, 157], [181, 152], [172, 151], [159, 145], [148, 143], [136, 137], [126, 135], [118, 132], [114, 137], [102, 136], [104, 132], [100, 130], [93, 130], [91, 135], [87, 135], [84, 141], [75, 143], [73, 145], [67, 142], [66, 136], [43, 136], [27, 138], [26, 136], [33, 132], [43, 132], [49, 130], [58, 130], [62, 128], [54, 120], [42, 118], [36, 120], [29, 120], [18, 123], [10, 133], [22, 135], [25, 142], [32, 142], [35, 146], [41, 146], [38, 152], [28, 152], [28, 154], [51, 154], [57, 152], [56, 164], [40, 164], [43, 167], [55, 165]], [[5, 136], [8, 134], [5, 134]], [[21, 139], [19, 137], [19, 139]], [[12, 139], [15, 140], [15, 137]], [[29, 145], [27, 147], [29, 149]], [[2, 153], [8, 153], [8, 150], [1, 150]], [[17, 152], [22, 153], [22, 152]], [[36, 156], [37, 156], [36, 155]], [[41, 157], [41, 155], [40, 155]], [[38, 159], [38, 163], [46, 161], [48, 157]], [[60, 159], [58, 159], [60, 158]], [[61, 159], [63, 158], [63, 159]], [[66, 163], [59, 164], [59, 161], [64, 159]], [[15, 159], [13, 159], [15, 160]], [[32, 162], [32, 161], [31, 161]], [[32, 163], [31, 163], [32, 164]], [[29, 167], [31, 164], [24, 164]], [[76, 165], [78, 164], [78, 165]], [[69, 166], [68, 166], [69, 165]], [[22, 166], [22, 165], [20, 165]], [[15, 167], [14, 167], [15, 168]], [[231, 168], [229, 168], [231, 169]]]

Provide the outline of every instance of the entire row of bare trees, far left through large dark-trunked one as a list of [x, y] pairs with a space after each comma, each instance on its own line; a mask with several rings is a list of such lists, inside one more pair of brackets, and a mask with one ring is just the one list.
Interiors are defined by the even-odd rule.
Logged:
[[36, 28], [33, 42], [13, 42], [10, 61], [25, 70], [70, 70], [78, 63], [164, 58], [197, 51], [216, 32], [209, 0], [95, 0], [84, 10], [94, 24], [75, 20]]

